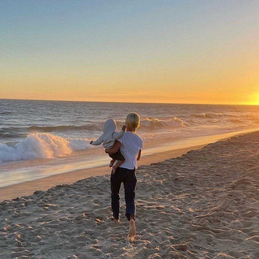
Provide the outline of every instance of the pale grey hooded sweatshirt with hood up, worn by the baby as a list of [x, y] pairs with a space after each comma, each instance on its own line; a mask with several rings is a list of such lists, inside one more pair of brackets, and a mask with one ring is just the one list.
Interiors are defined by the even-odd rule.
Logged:
[[109, 149], [113, 146], [116, 139], [122, 138], [124, 131], [116, 132], [116, 123], [113, 119], [108, 119], [103, 124], [103, 134], [95, 140], [92, 145], [99, 146], [103, 143], [103, 147]]

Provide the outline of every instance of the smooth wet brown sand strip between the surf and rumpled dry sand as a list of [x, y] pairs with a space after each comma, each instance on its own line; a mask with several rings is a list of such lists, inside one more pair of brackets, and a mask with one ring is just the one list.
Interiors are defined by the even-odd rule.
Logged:
[[[162, 162], [170, 158], [176, 158], [176, 157], [182, 156], [183, 154], [186, 154], [188, 151], [202, 149], [203, 147], [205, 147], [210, 143], [215, 143], [217, 141], [224, 141], [235, 136], [242, 136], [242, 135], [249, 134], [251, 132], [257, 132], [257, 131], [258, 129], [254, 129], [254, 130], [240, 131], [240, 133], [231, 132], [231, 133], [225, 133], [225, 134], [219, 134], [219, 135], [200, 137], [203, 139], [207, 139], [208, 140], [207, 143], [201, 144], [201, 145], [191, 145], [184, 148], [171, 149], [171, 150], [166, 150], [162, 152], [160, 151], [160, 152], [154, 152], [150, 154], [144, 154], [138, 161], [138, 166], [150, 165], [152, 163]], [[221, 136], [222, 138], [219, 138], [218, 140], [213, 141], [214, 140], [213, 137], [215, 136]], [[198, 142], [193, 142], [193, 143], [195, 144]], [[91, 176], [101, 176], [101, 175], [110, 174], [110, 171], [111, 169], [108, 167], [108, 164], [107, 164], [105, 166], [78, 169], [78, 170], [74, 170], [66, 173], [47, 176], [47, 177], [32, 180], [32, 181], [4, 186], [0, 188], [0, 202], [3, 200], [14, 199], [16, 197], [28, 196], [34, 193], [36, 190], [47, 190], [56, 185], [72, 184], [78, 180], [88, 178]]]

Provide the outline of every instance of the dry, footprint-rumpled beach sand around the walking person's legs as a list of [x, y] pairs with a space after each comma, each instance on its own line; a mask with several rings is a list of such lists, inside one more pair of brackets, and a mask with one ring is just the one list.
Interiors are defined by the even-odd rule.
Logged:
[[0, 258], [259, 258], [259, 132], [137, 170], [136, 229], [110, 175], [0, 203]]

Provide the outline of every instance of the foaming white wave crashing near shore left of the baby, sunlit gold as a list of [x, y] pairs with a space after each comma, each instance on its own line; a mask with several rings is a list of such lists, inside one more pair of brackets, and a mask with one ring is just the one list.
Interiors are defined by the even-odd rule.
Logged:
[[62, 138], [49, 133], [35, 133], [13, 146], [0, 143], [0, 162], [21, 159], [53, 158], [73, 150], [91, 148], [88, 139]]

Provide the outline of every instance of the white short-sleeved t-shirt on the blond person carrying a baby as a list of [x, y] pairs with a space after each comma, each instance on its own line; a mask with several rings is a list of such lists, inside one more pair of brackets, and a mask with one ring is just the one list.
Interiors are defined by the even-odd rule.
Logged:
[[119, 167], [127, 169], [137, 169], [137, 157], [140, 149], [143, 148], [143, 140], [136, 133], [127, 131], [122, 138], [118, 139], [121, 142], [121, 153], [125, 161]]

